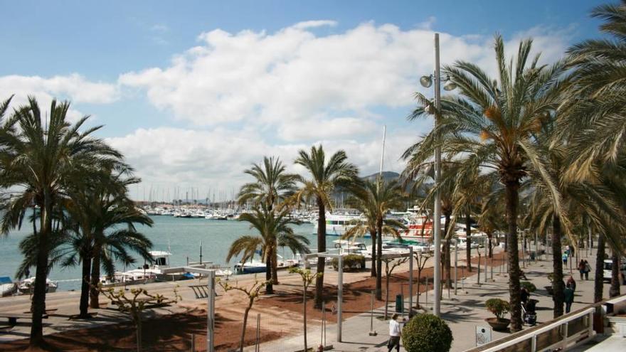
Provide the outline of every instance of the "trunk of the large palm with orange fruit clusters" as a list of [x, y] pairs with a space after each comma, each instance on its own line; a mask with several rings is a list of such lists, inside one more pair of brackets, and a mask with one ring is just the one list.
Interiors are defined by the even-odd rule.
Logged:
[[509, 304], [511, 306], [511, 331], [521, 330], [521, 297], [519, 286], [519, 252], [517, 248], [517, 206], [519, 202], [519, 181], [506, 182], [506, 215], [509, 220]]

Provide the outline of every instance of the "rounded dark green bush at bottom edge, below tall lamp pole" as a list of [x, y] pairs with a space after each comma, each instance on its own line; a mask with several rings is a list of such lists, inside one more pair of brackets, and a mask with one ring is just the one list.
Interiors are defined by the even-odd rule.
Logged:
[[408, 352], [447, 352], [452, 346], [452, 331], [433, 314], [418, 314], [402, 329], [402, 344]]

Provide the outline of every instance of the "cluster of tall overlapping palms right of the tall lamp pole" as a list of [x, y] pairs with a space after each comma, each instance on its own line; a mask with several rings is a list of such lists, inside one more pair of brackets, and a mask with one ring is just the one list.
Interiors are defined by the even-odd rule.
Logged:
[[[445, 155], [442, 170], [450, 169], [435, 185], [442, 197], [456, 198], [455, 209], [469, 213], [461, 210], [460, 193], [468, 184], [483, 184], [487, 192], [476, 195], [482, 213], [498, 204], [504, 209], [514, 331], [521, 329], [518, 228], [546, 233], [551, 226], [555, 253], [563, 240], [578, 245], [591, 231], [610, 245], [616, 269], [624, 250], [626, 1], [599, 6], [592, 15], [605, 20], [600, 29], [606, 37], [578, 43], [551, 65], [540, 64], [539, 54], [531, 56], [530, 39], [506, 58], [502, 36], [496, 36], [497, 77], [465, 61], [446, 66], [458, 93], [443, 97], [440, 111], [418, 93], [419, 106], [410, 117], [434, 111], [439, 124], [405, 153], [406, 174], [423, 173], [439, 146]], [[526, 213], [520, 204], [528, 207]], [[598, 267], [603, 255], [598, 251]], [[558, 255], [553, 266], [554, 315], [560, 316]], [[618, 294], [619, 279], [612, 282], [610, 293]], [[601, 291], [596, 296], [601, 299]]]

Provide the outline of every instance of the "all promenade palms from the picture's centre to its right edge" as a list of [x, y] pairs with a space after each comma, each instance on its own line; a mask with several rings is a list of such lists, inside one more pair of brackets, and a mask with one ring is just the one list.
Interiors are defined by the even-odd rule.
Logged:
[[[265, 168], [255, 165], [246, 171], [255, 182], [242, 188], [240, 201], [255, 198], [265, 203], [263, 211], [297, 206], [302, 201], [314, 203], [319, 212], [317, 248], [322, 252], [326, 250], [325, 213], [332, 208], [331, 193], [337, 187], [350, 191], [349, 203], [367, 220], [352, 228], [348, 236], [371, 235], [372, 257], [376, 258], [372, 275], [377, 277], [380, 299], [381, 238], [400, 228], [385, 214], [403, 205], [405, 187], [415, 193], [433, 178], [433, 154], [440, 147], [444, 154], [442, 179], [423, 198], [423, 208], [432, 206], [435, 193], [440, 193], [446, 239], [454, 228], [451, 220], [459, 218], [465, 218], [468, 242], [474, 218], [489, 242], [496, 231], [506, 233], [514, 331], [521, 329], [518, 230], [529, 228], [545, 237], [550, 228], [557, 253], [553, 261], [554, 316], [560, 316], [563, 266], [558, 253], [563, 245], [577, 246], [588, 233], [597, 234], [598, 267], [604, 260], [602, 246], [606, 242], [615, 269], [624, 250], [626, 1], [599, 6], [592, 16], [605, 20], [600, 29], [608, 37], [578, 43], [556, 63], [540, 64], [540, 54], [531, 55], [531, 39], [521, 41], [516, 54], [506, 58], [504, 40], [496, 36], [495, 78], [462, 60], [446, 66], [445, 75], [457, 85], [457, 94], [443, 97], [439, 111], [427, 97], [415, 95], [418, 107], [410, 119], [434, 112], [439, 123], [403, 154], [408, 164], [402, 185], [361, 181], [343, 151], [327, 160], [322, 146], [313, 146], [310, 152], [299, 151], [295, 161], [304, 166], [309, 178], [287, 175], [280, 161], [266, 158]], [[450, 241], [444, 243], [444, 279], [449, 281]], [[467, 250], [469, 256], [469, 245]], [[233, 246], [229, 258], [241, 251]], [[263, 251], [265, 258], [270, 258], [268, 266], [275, 262], [273, 251], [274, 244]], [[324, 271], [321, 258], [317, 270]], [[600, 290], [596, 297], [602, 299], [602, 270], [596, 272]], [[277, 282], [275, 272], [267, 275]], [[613, 276], [611, 295], [619, 292], [617, 270]], [[318, 277], [317, 306], [322, 283], [323, 277]]]

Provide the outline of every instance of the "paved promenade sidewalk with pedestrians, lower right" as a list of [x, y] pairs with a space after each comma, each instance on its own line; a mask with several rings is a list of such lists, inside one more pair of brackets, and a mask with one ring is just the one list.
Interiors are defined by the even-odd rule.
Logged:
[[[588, 260], [591, 267], [595, 270], [595, 251], [589, 255], [586, 254], [587, 252], [582, 250], [579, 260], [580, 258]], [[593, 271], [590, 273], [588, 281], [580, 281], [575, 266], [574, 263], [572, 276], [578, 285], [576, 287], [572, 310], [580, 309], [583, 308], [583, 306], [593, 303]], [[543, 256], [536, 262], [531, 262], [530, 264], [526, 263], [525, 266], [520, 262], [520, 267], [521, 270], [524, 270], [526, 273], [528, 281], [532, 282], [537, 287], [537, 291], [531, 294], [531, 298], [539, 300], [537, 304], [538, 324], [551, 320], [553, 316], [552, 297], [547, 294], [544, 287], [550, 284], [547, 274], [552, 272], [552, 257]], [[484, 319], [492, 316], [492, 314], [484, 308], [484, 302], [487, 299], [498, 297], [507, 301], [509, 300], [508, 274], [506, 274], [506, 272], [506, 267], [494, 266], [493, 281], [491, 281], [492, 268], [489, 268], [487, 283], [485, 283], [484, 269], [482, 269], [481, 284], [477, 284], [477, 275], [475, 275], [476, 268], [474, 267], [474, 276], [459, 282], [457, 294], [454, 294], [454, 289], [452, 289], [450, 291], [450, 299], [448, 299], [447, 290], [444, 291], [444, 299], [441, 305], [442, 318], [449, 324], [452, 330], [452, 336], [455, 338], [450, 351], [465, 351], [475, 346], [476, 326], [489, 326]], [[567, 269], [564, 270], [564, 274], [567, 280], [570, 275], [569, 265]], [[608, 297], [608, 288], [609, 284], [605, 284], [604, 293], [606, 297]], [[430, 291], [428, 294], [429, 302], [431, 302], [433, 292]], [[420, 298], [421, 303], [423, 303], [424, 300], [425, 297]], [[415, 302], [415, 298], [413, 302]], [[430, 309], [430, 303], [423, 304], [423, 306], [425, 306], [426, 309]], [[375, 314], [382, 316], [383, 309], [384, 306], [376, 309]], [[391, 305], [390, 309], [393, 309]], [[381, 321], [375, 317], [373, 324], [374, 330], [378, 332], [377, 336], [368, 335], [368, 331], [370, 331], [370, 314], [361, 314], [346, 319], [343, 324], [343, 338], [341, 343], [336, 342], [336, 325], [329, 324], [327, 328], [327, 345], [333, 346], [332, 351], [387, 351], [388, 321]], [[526, 328], [527, 326], [524, 327]], [[309, 348], [317, 348], [320, 343], [321, 335], [319, 326], [309, 329], [308, 333]], [[508, 333], [492, 331], [493, 340], [507, 335]], [[302, 348], [303, 337], [299, 335], [283, 338], [279, 341], [263, 343], [260, 346], [260, 351], [298, 351], [302, 350]], [[254, 351], [254, 346], [246, 348], [245, 351]], [[405, 350], [400, 348], [400, 351]]]

